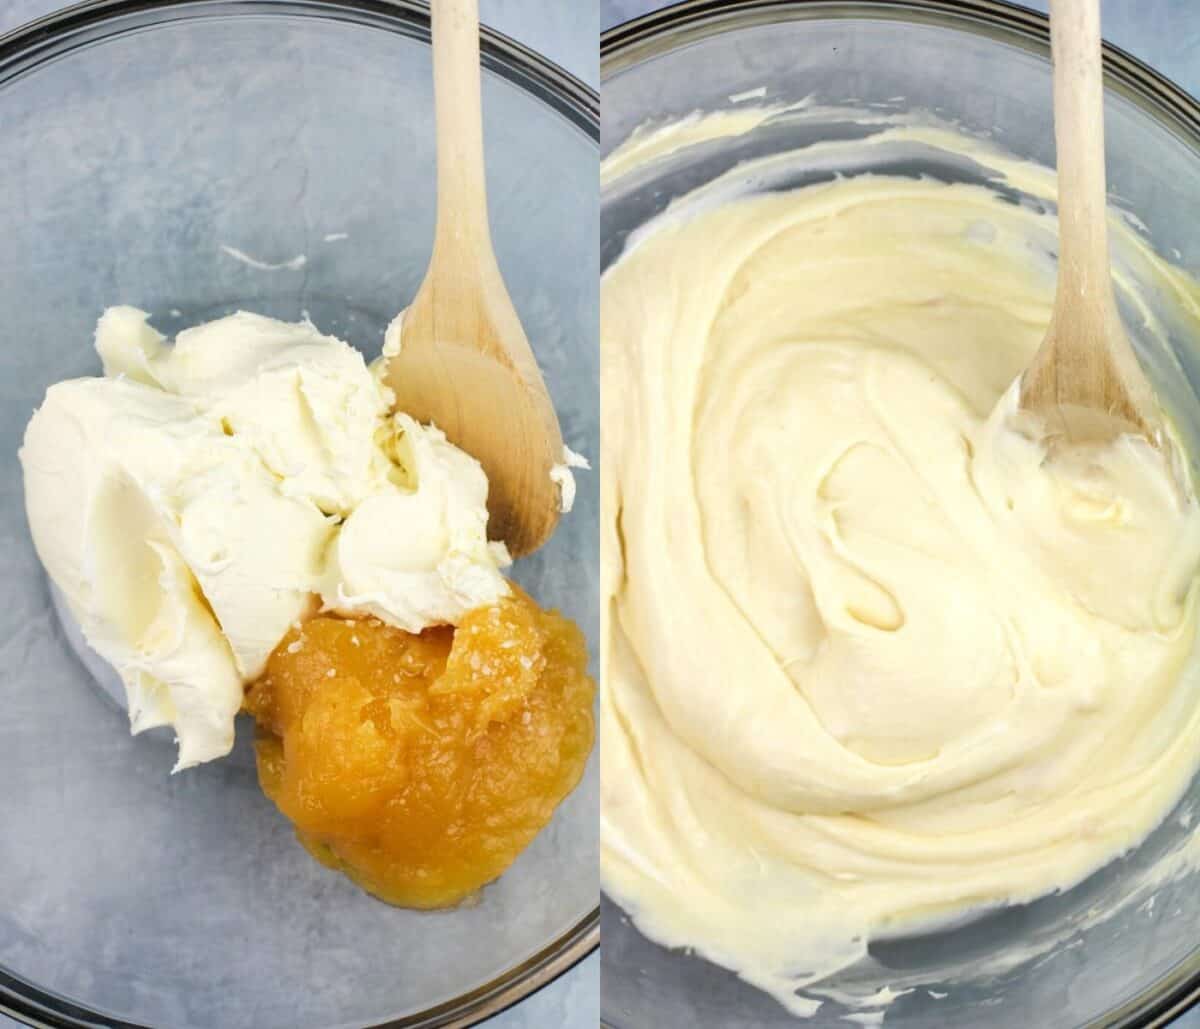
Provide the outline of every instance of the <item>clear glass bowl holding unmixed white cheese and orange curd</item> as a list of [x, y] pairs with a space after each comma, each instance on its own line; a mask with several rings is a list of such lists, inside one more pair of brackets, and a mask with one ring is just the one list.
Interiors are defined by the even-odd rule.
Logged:
[[[482, 64], [499, 264], [564, 438], [595, 457], [598, 98], [487, 30]], [[0, 1010], [462, 1025], [598, 945], [596, 762], [476, 905], [389, 908], [295, 842], [248, 723], [233, 756], [174, 777], [169, 739], [130, 738], [67, 646], [25, 525], [25, 422], [50, 383], [100, 371], [106, 305], [167, 333], [307, 312], [378, 353], [428, 259], [431, 90], [415, 2], [92, 2], [0, 38]], [[596, 476], [578, 486], [515, 572], [595, 639]]]

